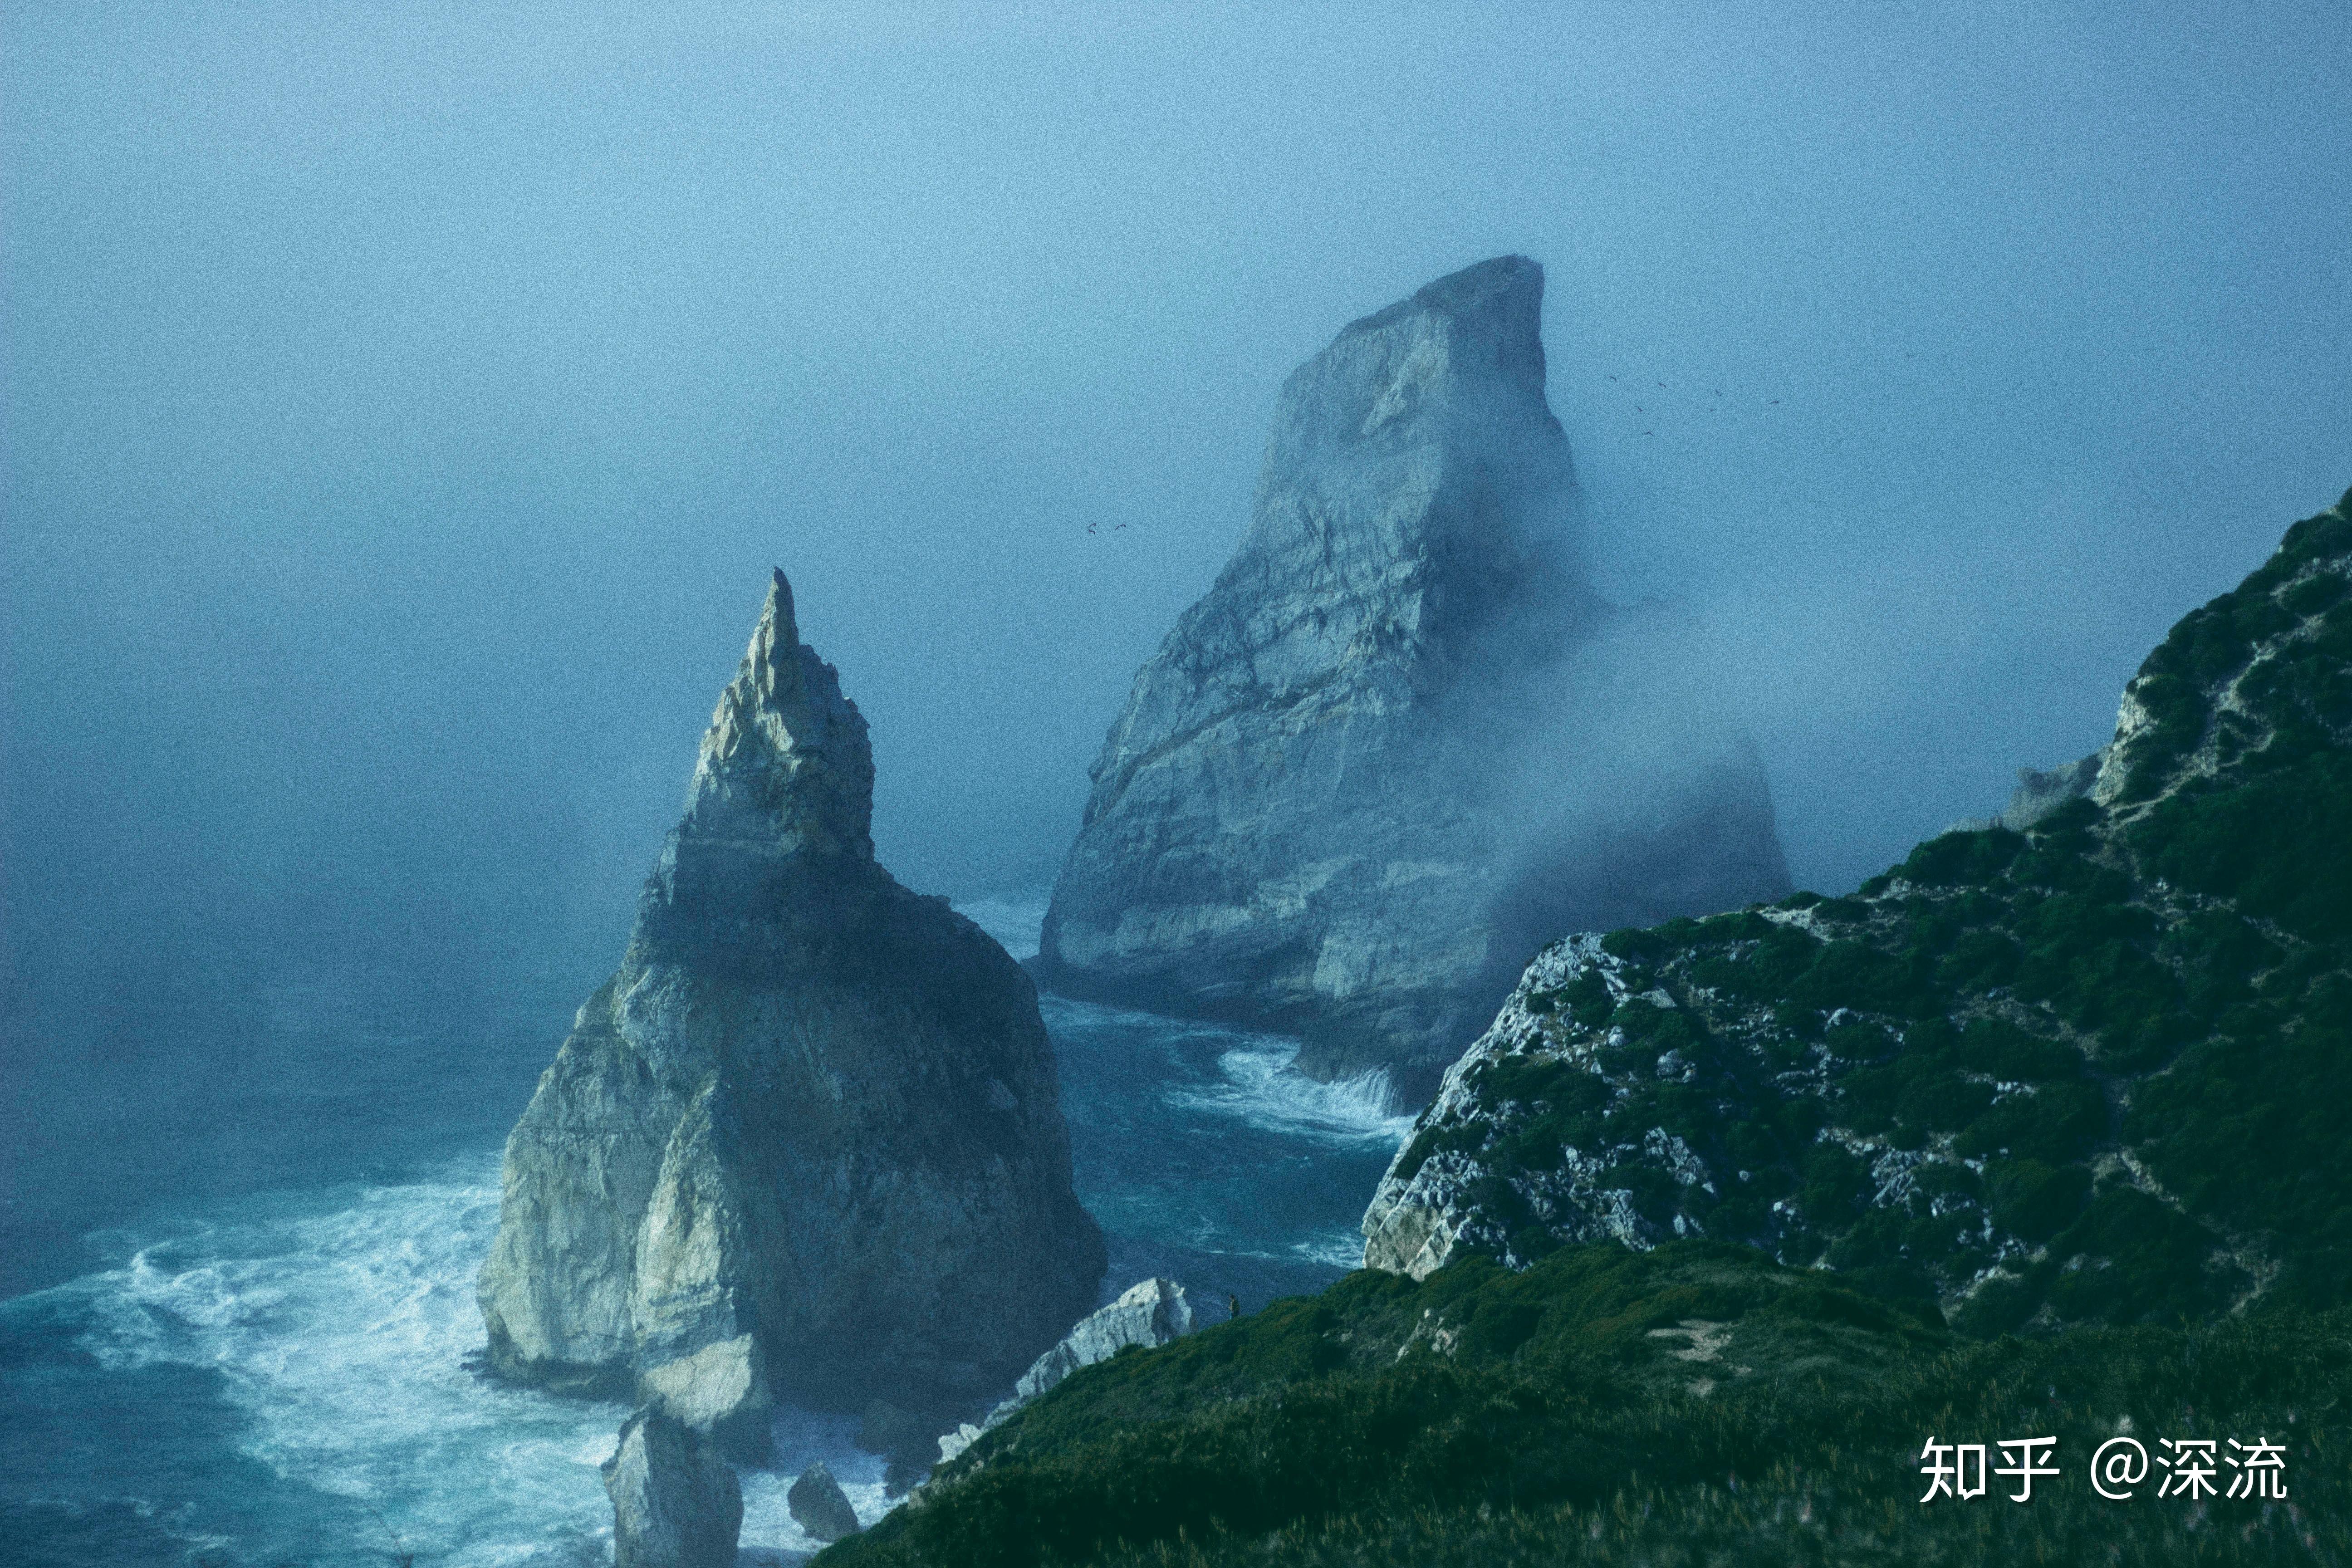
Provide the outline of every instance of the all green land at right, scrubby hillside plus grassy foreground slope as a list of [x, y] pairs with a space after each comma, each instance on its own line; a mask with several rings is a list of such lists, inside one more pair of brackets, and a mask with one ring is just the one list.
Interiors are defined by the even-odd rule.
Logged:
[[[1355, 1274], [1087, 1368], [821, 1561], [2352, 1556], [2347, 564], [2328, 512], [2183, 621], [2105, 806], [1522, 987], [1515, 1048], [1406, 1154], [1475, 1168], [1472, 1241], [1517, 1272]], [[1653, 1234], [1837, 1272], [1562, 1246], [1578, 1159]], [[2124, 1418], [2286, 1441], [2293, 1502], [2103, 1502]], [[1919, 1507], [1929, 1434], [2058, 1434], [2067, 1476]]]

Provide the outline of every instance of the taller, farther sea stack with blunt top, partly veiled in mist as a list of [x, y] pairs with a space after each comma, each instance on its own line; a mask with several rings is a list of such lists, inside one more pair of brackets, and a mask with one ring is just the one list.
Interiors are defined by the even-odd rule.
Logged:
[[1788, 891], [1740, 745], [1606, 842], [1510, 799], [1510, 738], [1613, 618], [1576, 571], [1541, 303], [1534, 261], [1486, 261], [1284, 383], [1249, 536], [1091, 769], [1051, 987], [1301, 1032], [1317, 1077], [1425, 1098], [1543, 940]]

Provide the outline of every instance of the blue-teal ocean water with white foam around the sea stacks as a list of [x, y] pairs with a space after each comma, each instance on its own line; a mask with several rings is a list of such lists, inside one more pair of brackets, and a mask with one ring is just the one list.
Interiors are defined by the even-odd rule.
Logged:
[[[1035, 952], [1042, 900], [962, 907]], [[158, 1152], [141, 1211], [75, 1239], [85, 1267], [0, 1300], [0, 1563], [609, 1563], [597, 1465], [626, 1408], [468, 1371], [499, 1143], [572, 1001], [536, 1044], [513, 1016], [553, 1006], [543, 987], [485, 1004], [513, 1056], [485, 1065], [482, 1034], [445, 1013], [400, 1030], [379, 992], [308, 992], [301, 1039], [367, 1041], [367, 1070], [296, 1074], [299, 1105], [275, 1114], [266, 1086], [240, 1091], [256, 1121], [238, 1147], [270, 1143], [268, 1180], [221, 1194], [174, 1178], [183, 1147]], [[1214, 1319], [1355, 1267], [1357, 1218], [1409, 1128], [1381, 1081], [1312, 1084], [1277, 1037], [1054, 997], [1044, 1018], [1080, 1197], [1110, 1239], [1105, 1300], [1167, 1274]], [[122, 1128], [113, 1154], [136, 1166], [148, 1124]], [[771, 1467], [743, 1472], [750, 1561], [816, 1547], [783, 1502], [809, 1460], [868, 1523], [889, 1507], [854, 1429], [779, 1418]]]

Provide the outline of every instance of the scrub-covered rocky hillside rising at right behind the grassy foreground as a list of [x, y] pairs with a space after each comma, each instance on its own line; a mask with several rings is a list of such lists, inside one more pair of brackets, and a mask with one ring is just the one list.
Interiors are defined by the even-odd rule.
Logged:
[[[1712, 1237], [1980, 1333], [2343, 1300], [2352, 496], [2185, 616], [2091, 757], [1844, 898], [1571, 936], [1364, 1213], [1428, 1276]], [[2300, 1180], [2300, 1185], [2298, 1185]]]

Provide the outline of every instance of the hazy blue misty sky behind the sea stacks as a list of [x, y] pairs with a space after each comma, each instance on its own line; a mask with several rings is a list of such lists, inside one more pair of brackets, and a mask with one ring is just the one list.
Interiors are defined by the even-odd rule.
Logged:
[[2340, 5], [42, 0], [0, 52], [19, 980], [593, 978], [771, 564], [884, 863], [1042, 884], [1282, 376], [1498, 252], [1602, 585], [1689, 616], [1802, 884], [2103, 743], [2352, 484]]

